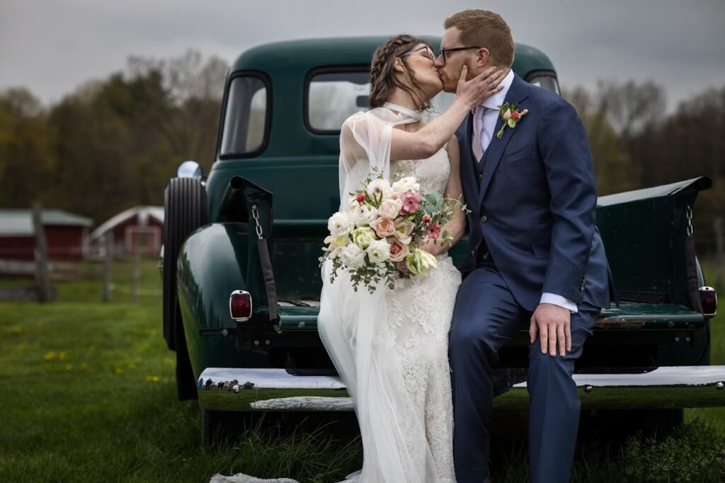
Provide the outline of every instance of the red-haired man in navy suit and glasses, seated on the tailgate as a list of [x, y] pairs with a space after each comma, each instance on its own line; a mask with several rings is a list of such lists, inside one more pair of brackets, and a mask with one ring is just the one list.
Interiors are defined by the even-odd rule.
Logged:
[[[527, 324], [530, 479], [566, 482], [580, 407], [571, 374], [595, 317], [610, 301], [587, 135], [568, 102], [510, 70], [514, 43], [498, 14], [466, 10], [444, 27], [436, 59], [444, 91], [455, 92], [464, 65], [469, 78], [492, 65], [508, 71], [503, 90], [456, 132], [471, 210], [449, 348], [457, 482], [486, 481], [491, 366]], [[511, 112], [515, 127], [507, 125], [499, 138], [505, 103], [515, 104], [518, 114]]]

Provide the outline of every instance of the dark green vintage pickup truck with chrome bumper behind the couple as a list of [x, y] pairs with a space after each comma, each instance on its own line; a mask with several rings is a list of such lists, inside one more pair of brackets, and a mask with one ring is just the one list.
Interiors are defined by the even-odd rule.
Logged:
[[[437, 47], [439, 38], [428, 40]], [[215, 163], [185, 161], [165, 191], [163, 332], [178, 395], [198, 398], [204, 438], [220, 411], [351, 411], [318, 337], [318, 257], [339, 206], [339, 128], [367, 109], [369, 64], [386, 38], [270, 43], [228, 74]], [[541, 51], [513, 70], [558, 92]], [[434, 105], [445, 109], [442, 93]], [[725, 406], [711, 366], [716, 294], [692, 217], [708, 177], [599, 199], [597, 222], [620, 305], [602, 311], [577, 365], [584, 408]], [[451, 253], [463, 261], [465, 240]], [[525, 408], [528, 327], [500, 354], [498, 408]]]

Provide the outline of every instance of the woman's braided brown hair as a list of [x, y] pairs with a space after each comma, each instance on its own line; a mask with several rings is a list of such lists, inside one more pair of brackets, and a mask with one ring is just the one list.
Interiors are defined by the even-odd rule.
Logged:
[[[370, 98], [368, 99], [370, 109], [381, 107], [385, 104], [393, 89], [396, 87], [410, 94], [418, 110], [424, 111], [431, 107], [428, 99], [424, 100], [421, 98], [421, 92], [423, 90], [418, 84], [418, 81], [415, 80], [415, 72], [407, 68], [407, 58], [401, 57], [402, 54], [410, 51], [410, 49], [413, 49], [413, 47], [420, 43], [428, 45], [428, 42], [422, 41], [420, 38], [403, 34], [396, 35], [376, 49], [375, 54], [373, 54], [373, 62], [370, 64], [371, 88]], [[398, 57], [405, 66], [405, 80], [395, 75], [393, 69], [395, 59]]]

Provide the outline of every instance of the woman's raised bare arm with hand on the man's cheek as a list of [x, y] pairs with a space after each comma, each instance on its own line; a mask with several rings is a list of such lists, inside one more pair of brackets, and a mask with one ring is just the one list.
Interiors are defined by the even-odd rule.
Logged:
[[489, 67], [471, 80], [465, 80], [466, 72], [468, 69], [463, 66], [455, 101], [443, 114], [415, 133], [393, 130], [390, 143], [391, 161], [426, 159], [433, 156], [451, 138], [471, 109], [502, 89], [500, 83], [505, 75], [498, 67]]

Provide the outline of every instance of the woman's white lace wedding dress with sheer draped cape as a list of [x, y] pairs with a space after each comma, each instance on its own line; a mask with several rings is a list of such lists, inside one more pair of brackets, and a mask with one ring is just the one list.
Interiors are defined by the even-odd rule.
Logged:
[[[347, 211], [348, 193], [371, 167], [388, 178], [415, 176], [423, 193], [444, 193], [450, 174], [444, 149], [420, 161], [389, 161], [392, 127], [418, 116], [386, 104], [345, 122], [341, 210]], [[455, 483], [448, 329], [460, 273], [449, 256], [437, 259], [430, 274], [397, 280], [394, 289], [380, 287], [373, 294], [352, 290], [344, 273], [331, 283], [330, 266], [323, 266], [320, 338], [353, 400], [363, 440], [363, 469], [349, 477], [353, 481]], [[260, 481], [241, 478], [212, 482]]]

